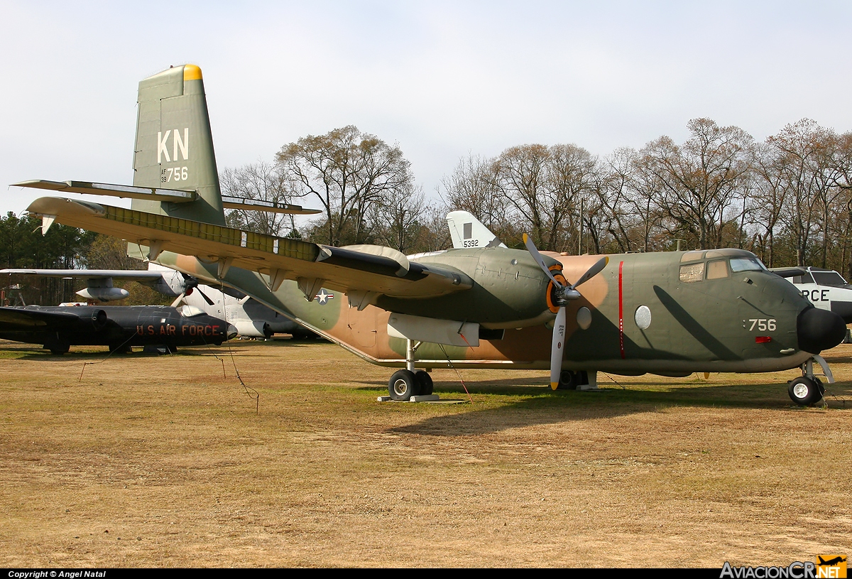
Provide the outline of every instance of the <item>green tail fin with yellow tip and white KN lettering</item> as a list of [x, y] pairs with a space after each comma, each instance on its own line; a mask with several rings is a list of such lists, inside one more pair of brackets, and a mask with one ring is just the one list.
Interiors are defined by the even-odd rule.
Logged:
[[139, 83], [133, 184], [194, 191], [195, 200], [134, 199], [137, 211], [225, 224], [201, 69], [171, 67]]

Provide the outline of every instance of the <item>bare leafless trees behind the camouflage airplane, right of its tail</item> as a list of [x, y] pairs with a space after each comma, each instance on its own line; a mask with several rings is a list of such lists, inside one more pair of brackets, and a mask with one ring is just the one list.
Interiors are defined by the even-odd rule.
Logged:
[[522, 247], [526, 232], [539, 248], [570, 254], [739, 247], [769, 267], [849, 275], [852, 133], [810, 119], [763, 142], [712, 119], [690, 120], [688, 133], [682, 143], [660, 136], [604, 157], [576, 144], [471, 154], [429, 201], [399, 146], [348, 126], [285, 145], [273, 163], [223, 171], [222, 188], [319, 205], [322, 217], [301, 230], [291, 217], [234, 210], [228, 220], [336, 246], [444, 248], [446, 212], [463, 209], [508, 246]]

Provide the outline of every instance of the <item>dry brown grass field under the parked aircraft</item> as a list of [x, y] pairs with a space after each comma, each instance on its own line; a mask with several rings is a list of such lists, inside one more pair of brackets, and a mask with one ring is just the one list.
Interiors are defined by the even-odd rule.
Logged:
[[[472, 403], [379, 403], [390, 370], [337, 346], [231, 347], [233, 362], [227, 346], [104, 360], [0, 342], [0, 565], [719, 567], [852, 550], [849, 345], [824, 353], [828, 408], [792, 404], [795, 371], [551, 392], [546, 372], [463, 370]], [[101, 363], [80, 379], [83, 362]], [[433, 377], [467, 400], [452, 370]]]

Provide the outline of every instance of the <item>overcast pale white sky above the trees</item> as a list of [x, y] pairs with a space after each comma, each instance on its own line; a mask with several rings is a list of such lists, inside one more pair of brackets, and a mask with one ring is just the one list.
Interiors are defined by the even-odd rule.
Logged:
[[[432, 193], [468, 153], [598, 155], [688, 119], [763, 140], [852, 130], [841, 2], [37, 3], [0, 0], [0, 183], [130, 183], [137, 84], [204, 72], [219, 170], [355, 124]], [[0, 211], [40, 196], [0, 188]], [[102, 201], [106, 201], [101, 198]], [[114, 204], [115, 200], [108, 200]]]

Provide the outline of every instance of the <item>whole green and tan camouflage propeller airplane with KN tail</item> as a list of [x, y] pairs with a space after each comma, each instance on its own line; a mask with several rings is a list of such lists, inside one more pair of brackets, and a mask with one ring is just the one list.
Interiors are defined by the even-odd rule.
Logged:
[[686, 376], [800, 367], [803, 376], [788, 391], [811, 404], [824, 391], [813, 362], [832, 381], [819, 353], [846, 329], [737, 249], [569, 257], [538, 252], [529, 238], [527, 251], [487, 235], [475, 243], [479, 226], [471, 222], [470, 231], [462, 224], [454, 234], [462, 246], [406, 257], [389, 247], [323, 246], [228, 228], [204, 83], [193, 65], [139, 84], [132, 187], [18, 185], [130, 197], [130, 209], [43, 197], [28, 211], [43, 218], [44, 230], [59, 222], [128, 240], [131, 254], [222, 281], [368, 362], [404, 368], [389, 380], [398, 400], [430, 392], [423, 370], [447, 364], [550, 368], [554, 389], [594, 387], [598, 371]]

